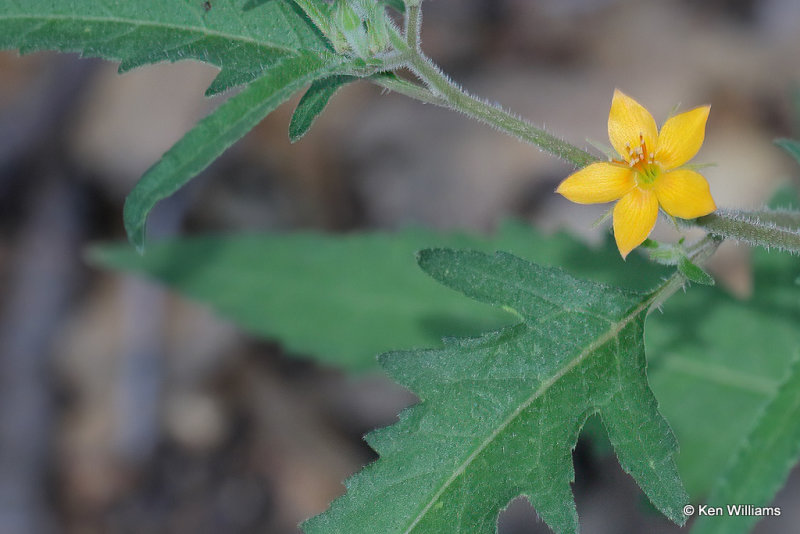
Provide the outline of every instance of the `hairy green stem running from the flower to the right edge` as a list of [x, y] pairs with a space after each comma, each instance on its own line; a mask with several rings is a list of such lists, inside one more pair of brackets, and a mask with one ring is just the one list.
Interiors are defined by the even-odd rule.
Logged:
[[775, 222], [796, 220], [797, 217], [798, 214], [792, 215], [791, 212], [718, 210], [695, 219], [694, 225], [721, 237], [800, 254], [800, 231]]

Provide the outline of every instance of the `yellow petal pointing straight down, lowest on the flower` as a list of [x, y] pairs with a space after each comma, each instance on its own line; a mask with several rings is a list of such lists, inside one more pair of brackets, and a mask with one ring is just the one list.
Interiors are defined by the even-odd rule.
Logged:
[[658, 199], [647, 189], [633, 189], [614, 206], [614, 239], [624, 259], [647, 239], [658, 218]]

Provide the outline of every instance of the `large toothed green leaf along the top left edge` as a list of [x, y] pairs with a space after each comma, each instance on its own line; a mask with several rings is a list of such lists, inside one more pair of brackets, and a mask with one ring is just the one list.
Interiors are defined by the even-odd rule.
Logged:
[[244, 11], [244, 0], [0, 0], [0, 48], [79, 52], [120, 61], [124, 72], [195, 59], [220, 67], [218, 93], [298, 53], [332, 58], [327, 40], [289, 0]]

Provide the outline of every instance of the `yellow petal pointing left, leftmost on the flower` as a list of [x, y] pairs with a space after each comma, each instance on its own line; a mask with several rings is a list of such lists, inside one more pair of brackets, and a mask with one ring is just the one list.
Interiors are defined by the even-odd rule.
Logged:
[[629, 167], [600, 162], [567, 176], [556, 193], [578, 204], [599, 204], [621, 198], [635, 185]]

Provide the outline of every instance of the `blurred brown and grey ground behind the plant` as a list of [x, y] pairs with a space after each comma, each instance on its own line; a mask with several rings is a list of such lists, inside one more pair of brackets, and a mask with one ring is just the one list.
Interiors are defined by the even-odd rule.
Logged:
[[[695, 161], [720, 206], [797, 176], [796, 0], [431, 0], [423, 46], [468, 90], [579, 146], [607, 142], [618, 87], [658, 122], [712, 104]], [[413, 396], [248, 337], [208, 309], [82, 261], [122, 240], [138, 177], [220, 99], [215, 69], [0, 53], [0, 534], [294, 533], [374, 459], [361, 436]], [[491, 231], [515, 216], [591, 241], [606, 208], [552, 194], [570, 169], [445, 110], [359, 83], [290, 144], [296, 99], [154, 212], [151, 237], [224, 231]], [[669, 229], [659, 228], [659, 235]], [[747, 251], [712, 268], [748, 291]], [[613, 457], [582, 444], [589, 533], [675, 532]], [[800, 477], [778, 497], [800, 503]], [[795, 516], [796, 517], [796, 516]], [[501, 532], [547, 532], [524, 501]], [[788, 517], [762, 533], [796, 532]]]

